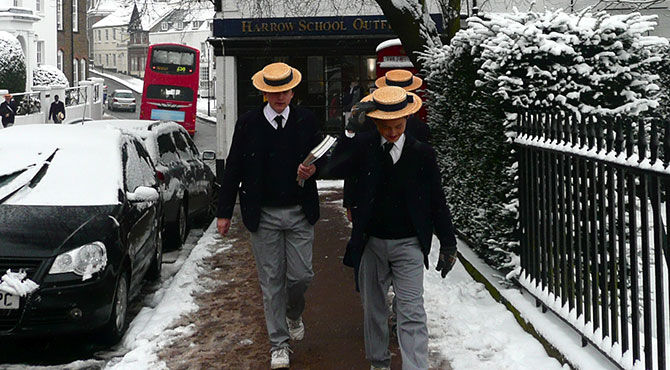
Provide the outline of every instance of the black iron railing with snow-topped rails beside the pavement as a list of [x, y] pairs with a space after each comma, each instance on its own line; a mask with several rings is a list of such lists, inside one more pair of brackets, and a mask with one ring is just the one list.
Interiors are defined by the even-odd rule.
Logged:
[[670, 121], [518, 117], [521, 284], [621, 368], [666, 369]]

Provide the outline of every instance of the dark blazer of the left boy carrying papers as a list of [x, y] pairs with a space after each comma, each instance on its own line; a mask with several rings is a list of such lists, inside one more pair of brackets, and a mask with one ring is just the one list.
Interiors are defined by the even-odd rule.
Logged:
[[[239, 189], [242, 221], [244, 226], [252, 232], [258, 230], [263, 182], [272, 181], [272, 179], [264, 178], [262, 158], [264, 158], [266, 148], [260, 140], [262, 125], [269, 124], [263, 114], [263, 107], [249, 111], [237, 120], [219, 192], [216, 216], [218, 218], [232, 217]], [[314, 113], [307, 109], [291, 105], [286, 125], [299, 125], [294, 146], [301, 159], [307, 157], [309, 152], [323, 139]], [[315, 163], [317, 173], [305, 181], [304, 187], [298, 194], [299, 204], [305, 212], [307, 221], [312, 225], [319, 219], [316, 177], [322, 163], [323, 159]], [[295, 164], [296, 176], [298, 164]]]

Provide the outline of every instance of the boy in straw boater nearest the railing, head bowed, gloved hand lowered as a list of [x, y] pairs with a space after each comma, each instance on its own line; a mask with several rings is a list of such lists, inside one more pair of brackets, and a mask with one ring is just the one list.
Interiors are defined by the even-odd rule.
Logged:
[[421, 108], [414, 93], [381, 87], [363, 98], [377, 130], [345, 132], [324, 174], [358, 177], [353, 228], [343, 262], [357, 275], [363, 303], [365, 354], [371, 369], [389, 369], [386, 293], [393, 284], [403, 369], [428, 368], [423, 266], [433, 232], [440, 241], [436, 269], [444, 278], [456, 263], [456, 237], [441, 186], [435, 150], [406, 135], [407, 117]]

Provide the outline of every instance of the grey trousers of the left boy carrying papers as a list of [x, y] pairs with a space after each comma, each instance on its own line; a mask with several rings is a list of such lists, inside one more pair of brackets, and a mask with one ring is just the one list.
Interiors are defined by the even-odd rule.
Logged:
[[288, 347], [286, 318], [296, 320], [305, 309], [312, 281], [314, 226], [300, 206], [263, 208], [251, 245], [263, 292], [265, 324], [272, 350]]

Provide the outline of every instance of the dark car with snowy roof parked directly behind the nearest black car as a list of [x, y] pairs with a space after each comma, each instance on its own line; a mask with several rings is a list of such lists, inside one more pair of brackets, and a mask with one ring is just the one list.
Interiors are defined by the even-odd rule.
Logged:
[[163, 195], [165, 246], [178, 249], [191, 225], [211, 221], [216, 214], [218, 184], [204, 162], [215, 153], [202, 154], [184, 127], [169, 121], [101, 120], [87, 125], [109, 125], [132, 132], [144, 144], [156, 163]]

